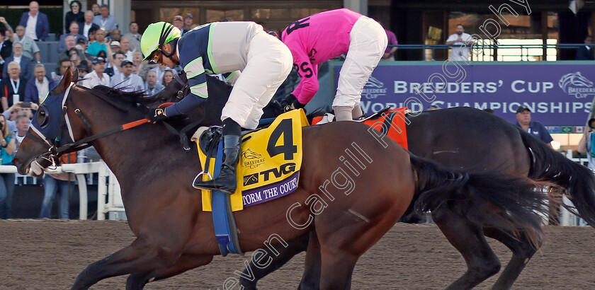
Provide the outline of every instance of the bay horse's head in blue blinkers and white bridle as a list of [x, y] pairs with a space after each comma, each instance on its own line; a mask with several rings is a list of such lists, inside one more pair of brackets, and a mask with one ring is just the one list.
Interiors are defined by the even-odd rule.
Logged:
[[78, 80], [78, 71], [71, 74], [70, 69], [64, 73], [62, 81], [47, 95], [44, 103], [35, 113], [25, 139], [18, 146], [13, 164], [16, 165], [18, 173], [27, 174], [31, 163], [40, 158], [36, 163], [35, 173], [42, 175], [40, 167], [46, 168], [55, 163], [55, 150], [62, 144], [74, 140], [72, 127], [66, 125], [68, 121], [64, 104], [74, 83]]

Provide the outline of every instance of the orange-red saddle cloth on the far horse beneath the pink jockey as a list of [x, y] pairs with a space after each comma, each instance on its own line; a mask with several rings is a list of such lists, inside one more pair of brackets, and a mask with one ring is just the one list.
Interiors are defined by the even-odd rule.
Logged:
[[[397, 142], [404, 149], [409, 150], [409, 146], [407, 145], [407, 123], [405, 122], [407, 112], [410, 112], [407, 108], [396, 108], [382, 112], [380, 115], [370, 116], [361, 122], [374, 127], [378, 132], [384, 133], [392, 141]], [[323, 116], [314, 117], [312, 124], [332, 122], [333, 117], [333, 115], [328, 113]]]

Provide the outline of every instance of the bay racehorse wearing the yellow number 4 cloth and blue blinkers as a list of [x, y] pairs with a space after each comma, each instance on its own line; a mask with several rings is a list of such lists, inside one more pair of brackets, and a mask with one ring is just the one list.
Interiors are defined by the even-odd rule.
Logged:
[[[72, 79], [68, 70], [42, 103], [13, 163], [19, 173], [40, 175], [42, 171], [32, 168], [32, 163], [39, 166], [38, 158], [53, 159], [62, 149], [88, 140], [118, 178], [128, 224], [137, 237], [86, 267], [72, 289], [88, 289], [101, 279], [123, 274], [130, 274], [127, 289], [142, 289], [149, 281], [208, 264], [220, 250], [212, 216], [201, 210], [200, 194], [191, 186], [200, 169], [196, 149], [182, 153], [178, 138], [164, 125], [145, 124], [147, 109], [138, 105], [145, 101], [142, 93], [101, 86], [91, 90], [74, 85]], [[212, 110], [209, 103], [203, 110]], [[319, 287], [348, 289], [358, 257], [392, 228], [412, 202], [416, 209], [431, 210], [444, 219], [456, 214], [455, 223], [516, 231], [514, 236], [540, 244], [540, 214], [547, 202], [533, 190], [540, 183], [446, 170], [395, 142], [379, 142], [369, 129], [356, 122], [305, 127], [297, 190], [234, 212], [242, 250], [257, 250], [263, 242], [281, 245], [315, 233], [308, 253], [319, 254]], [[358, 168], [358, 174], [344, 168], [346, 149], [361, 155], [358, 161], [365, 166]], [[335, 171], [342, 176], [332, 177]], [[339, 184], [327, 186], [328, 195], [318, 195], [319, 186], [326, 186], [329, 179]], [[288, 218], [304, 227], [290, 225]], [[471, 250], [475, 250], [472, 245], [465, 249]]]

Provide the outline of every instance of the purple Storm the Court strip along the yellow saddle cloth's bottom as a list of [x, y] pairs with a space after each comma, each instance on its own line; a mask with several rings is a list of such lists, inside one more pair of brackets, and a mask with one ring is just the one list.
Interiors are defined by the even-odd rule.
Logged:
[[242, 202], [244, 202], [244, 207], [251, 207], [289, 195], [297, 188], [298, 178], [300, 178], [300, 171], [293, 173], [290, 177], [285, 178], [285, 180], [255, 188], [254, 190], [243, 191]]

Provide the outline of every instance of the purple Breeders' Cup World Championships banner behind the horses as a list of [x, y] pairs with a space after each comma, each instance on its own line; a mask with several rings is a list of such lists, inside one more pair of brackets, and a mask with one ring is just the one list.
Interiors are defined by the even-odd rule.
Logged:
[[[341, 63], [334, 64], [336, 86]], [[516, 108], [527, 105], [532, 120], [546, 126], [584, 126], [595, 97], [594, 81], [591, 62], [380, 62], [365, 84], [361, 108], [368, 115], [387, 106], [414, 111], [433, 104], [491, 108], [516, 122]], [[419, 102], [405, 103], [408, 98]]]

